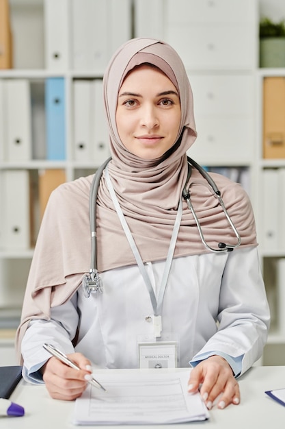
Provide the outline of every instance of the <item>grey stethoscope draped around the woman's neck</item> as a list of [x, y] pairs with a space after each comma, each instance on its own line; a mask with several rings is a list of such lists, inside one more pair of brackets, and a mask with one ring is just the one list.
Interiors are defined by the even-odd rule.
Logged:
[[[94, 175], [94, 179], [92, 180], [92, 184], [90, 188], [89, 217], [90, 217], [90, 231], [91, 231], [91, 264], [90, 264], [89, 273], [83, 276], [83, 281], [82, 281], [83, 293], [85, 297], [90, 297], [90, 293], [103, 292], [103, 283], [102, 283], [102, 279], [100, 278], [100, 275], [98, 274], [98, 268], [97, 268], [97, 236], [96, 236], [97, 204], [96, 204], [96, 201], [97, 201], [101, 176], [110, 160], [111, 158], [108, 158], [96, 171], [96, 174]], [[234, 250], [236, 247], [239, 247], [239, 245], [241, 244], [241, 236], [239, 232], [236, 230], [236, 227], [234, 226], [232, 219], [230, 219], [230, 215], [228, 214], [228, 211], [226, 210], [226, 207], [223, 204], [223, 199], [221, 198], [221, 192], [217, 188], [217, 185], [215, 184], [213, 178], [197, 162], [195, 162], [192, 158], [189, 158], [189, 156], [187, 157], [187, 160], [188, 160], [188, 174], [187, 174], [187, 180], [185, 182], [185, 186], [182, 191], [182, 197], [183, 199], [185, 199], [189, 210], [191, 210], [192, 212], [193, 218], [195, 220], [195, 223], [197, 225], [197, 228], [200, 234], [201, 241], [203, 245], [206, 247], [206, 249], [210, 250], [211, 252], [215, 252], [215, 253], [232, 252], [232, 250]], [[218, 248], [215, 249], [214, 247], [211, 247], [210, 245], [208, 245], [208, 243], [206, 243], [199, 219], [191, 203], [189, 188], [187, 189], [187, 184], [189, 182], [189, 179], [192, 173], [192, 166], [199, 171], [199, 173], [206, 179], [208, 184], [213, 189], [213, 193], [215, 197], [218, 199], [219, 204], [226, 216], [226, 219], [228, 220], [228, 223], [230, 224], [230, 227], [232, 228], [234, 235], [236, 236], [236, 240], [237, 240], [236, 244], [232, 245], [232, 244], [220, 242], [218, 243]]]

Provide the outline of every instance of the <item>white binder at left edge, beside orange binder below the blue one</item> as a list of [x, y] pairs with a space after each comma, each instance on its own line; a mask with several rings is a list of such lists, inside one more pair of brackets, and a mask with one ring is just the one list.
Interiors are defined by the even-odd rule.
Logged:
[[6, 170], [1, 172], [3, 211], [3, 247], [5, 249], [29, 249], [30, 210], [29, 172]]

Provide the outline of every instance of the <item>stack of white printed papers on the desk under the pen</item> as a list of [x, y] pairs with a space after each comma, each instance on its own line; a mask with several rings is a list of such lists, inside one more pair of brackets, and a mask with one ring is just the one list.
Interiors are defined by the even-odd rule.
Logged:
[[74, 424], [169, 424], [206, 420], [200, 393], [187, 392], [189, 371], [106, 370], [75, 402]]

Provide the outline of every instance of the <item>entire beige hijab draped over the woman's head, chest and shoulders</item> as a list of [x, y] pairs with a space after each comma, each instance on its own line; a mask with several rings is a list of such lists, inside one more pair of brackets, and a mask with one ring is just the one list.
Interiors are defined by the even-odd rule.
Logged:
[[[116, 106], [126, 73], [142, 63], [159, 67], [180, 95], [181, 123], [177, 141], [161, 159], [144, 160], [131, 154], [120, 141]], [[152, 39], [134, 39], [113, 56], [104, 77], [112, 160], [109, 174], [142, 260], [164, 260], [167, 255], [182, 188], [187, 180], [186, 151], [196, 138], [193, 97], [185, 68], [172, 47]], [[190, 151], [191, 153], [191, 151]], [[245, 191], [221, 175], [213, 175], [229, 215], [241, 234], [241, 247], [256, 245], [252, 208]], [[44, 214], [23, 303], [21, 338], [30, 319], [49, 319], [50, 308], [66, 302], [90, 268], [89, 195], [92, 176], [66, 183], [53, 192]], [[211, 187], [193, 169], [189, 181], [191, 201], [206, 241], [236, 243]], [[105, 174], [97, 200], [98, 269], [107, 271], [135, 264], [130, 245], [109, 195]], [[174, 257], [208, 252], [193, 216], [183, 202], [182, 221]], [[238, 250], [234, 251], [238, 252]]]

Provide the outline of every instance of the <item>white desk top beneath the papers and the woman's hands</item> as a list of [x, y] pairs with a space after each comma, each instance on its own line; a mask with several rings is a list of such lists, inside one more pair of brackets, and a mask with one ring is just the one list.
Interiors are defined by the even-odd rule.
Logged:
[[[214, 407], [210, 411], [211, 417], [208, 421], [170, 426], [159, 425], [152, 428], [182, 429], [186, 425], [189, 429], [284, 429], [285, 407], [265, 395], [264, 391], [285, 388], [285, 366], [253, 367], [239, 378], [239, 384], [241, 404], [238, 406], [230, 405], [224, 410]], [[0, 417], [1, 429], [80, 428], [72, 424], [74, 402], [51, 399], [43, 385], [35, 386], [22, 381], [12, 394], [11, 400], [25, 407], [25, 416]], [[98, 428], [98, 426], [88, 427]], [[101, 426], [101, 428], [106, 427]], [[133, 426], [124, 426], [128, 429], [131, 427]], [[150, 426], [137, 426], [138, 429], [146, 427], [150, 429]]]

